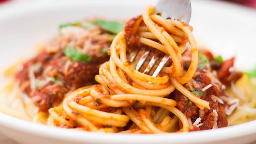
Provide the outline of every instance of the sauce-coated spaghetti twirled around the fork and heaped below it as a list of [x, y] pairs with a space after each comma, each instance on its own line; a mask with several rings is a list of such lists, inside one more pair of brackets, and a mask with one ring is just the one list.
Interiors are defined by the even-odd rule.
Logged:
[[[175, 108], [177, 102], [169, 96], [175, 89], [200, 109], [210, 110], [209, 102], [183, 87], [198, 67], [192, 27], [154, 15], [153, 10], [154, 6], [147, 6], [142, 16], [127, 22], [111, 44], [110, 60], [100, 66], [99, 75], [95, 76], [100, 85], [76, 90], [61, 106], [51, 108], [49, 125], [104, 132], [186, 132], [191, 127], [188, 118]], [[187, 42], [191, 46], [191, 63], [185, 72], [181, 54]], [[127, 61], [128, 47], [168, 54], [171, 63], [159, 76], [152, 77], [136, 71], [134, 64]]]

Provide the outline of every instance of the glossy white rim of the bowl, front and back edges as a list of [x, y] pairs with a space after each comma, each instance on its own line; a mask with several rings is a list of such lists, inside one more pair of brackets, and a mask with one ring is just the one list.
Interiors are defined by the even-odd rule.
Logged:
[[[133, 2], [141, 3], [145, 1], [137, 1], [137, 0], [130, 0], [125, 3], [125, 5], [132, 6]], [[114, 0], [114, 5], [120, 5], [123, 2], [119, 0]], [[155, 3], [154, 0], [149, 0], [148, 2]], [[196, 1], [195, 1], [196, 2]], [[202, 2], [202, 0], [197, 0], [197, 2]], [[236, 11], [242, 11], [243, 13], [247, 13], [250, 15], [256, 15], [256, 11], [252, 9], [248, 9], [242, 6], [238, 6], [236, 4], [230, 4], [228, 2], [219, 2], [219, 1], [203, 1], [207, 4], [221, 6], [226, 9], [231, 9]], [[78, 0], [75, 3], [84, 3], [82, 0]], [[89, 4], [95, 3], [104, 3], [107, 4], [106, 1], [100, 0], [93, 0], [93, 1], [86, 1]], [[6, 19], [9, 16], [15, 16], [18, 12], [22, 11], [24, 14], [31, 12], [31, 11], [40, 11], [40, 10], [47, 10], [51, 9], [59, 4], [57, 1], [53, 1], [51, 3], [51, 7], [49, 3], [45, 1], [33, 1], [32, 3], [17, 3], [13, 4], [11, 7], [3, 6], [1, 7], [1, 11], [3, 12], [0, 14], [0, 20]], [[65, 1], [65, 5], [73, 4], [68, 0]], [[221, 4], [221, 5], [220, 5]], [[192, 2], [193, 5], [193, 2]], [[33, 7], [31, 7], [33, 6]], [[15, 11], [12, 11], [13, 9]], [[37, 9], [37, 10], [36, 10]], [[8, 15], [6, 15], [8, 14]], [[203, 131], [194, 131], [189, 133], [166, 133], [166, 134], [122, 134], [122, 133], [98, 133], [98, 132], [88, 132], [88, 131], [80, 131], [80, 130], [73, 130], [73, 129], [63, 129], [59, 127], [53, 126], [46, 126], [42, 124], [31, 123], [29, 121], [21, 120], [7, 114], [0, 112], [0, 125], [6, 126], [12, 129], [16, 129], [19, 131], [25, 131], [26, 133], [38, 135], [38, 136], [45, 136], [63, 140], [72, 140], [76, 142], [99, 142], [99, 143], [121, 143], [124, 141], [129, 140], [130, 143], [166, 143], [166, 142], [173, 142], [173, 143], [190, 143], [190, 142], [209, 142], [209, 141], [219, 141], [227, 138], [235, 138], [235, 137], [242, 137], [245, 135], [256, 133], [256, 121], [247, 122], [244, 124], [239, 124], [236, 126], [228, 126], [225, 128], [218, 128], [212, 130], [203, 130]], [[100, 137], [100, 138], [99, 138]], [[184, 139], [185, 137], [185, 139]]]

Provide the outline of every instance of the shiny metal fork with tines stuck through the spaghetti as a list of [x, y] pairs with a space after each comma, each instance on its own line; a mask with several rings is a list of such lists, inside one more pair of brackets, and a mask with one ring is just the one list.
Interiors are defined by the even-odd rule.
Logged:
[[[159, 0], [156, 7], [155, 7], [155, 14], [160, 13], [163, 18], [171, 18], [173, 20], [180, 20], [185, 23], [189, 23], [190, 17], [191, 17], [191, 3], [190, 0]], [[142, 48], [144, 49], [144, 48]], [[136, 56], [138, 55], [139, 51], [142, 51], [142, 49], [139, 49], [137, 51], [132, 51], [130, 54], [130, 57], [128, 59], [128, 62], [133, 62]], [[139, 71], [150, 55], [151, 51], [148, 49], [145, 49], [144, 53], [140, 57], [135, 70]], [[154, 54], [154, 56], [151, 58], [149, 64], [147, 65], [146, 69], [144, 70], [144, 74], [149, 74], [156, 62], [160, 59], [158, 54]], [[159, 63], [157, 69], [153, 73], [153, 77], [156, 77], [159, 72], [163, 69], [165, 64], [170, 59], [169, 55], [166, 55], [162, 58], [161, 62]]]

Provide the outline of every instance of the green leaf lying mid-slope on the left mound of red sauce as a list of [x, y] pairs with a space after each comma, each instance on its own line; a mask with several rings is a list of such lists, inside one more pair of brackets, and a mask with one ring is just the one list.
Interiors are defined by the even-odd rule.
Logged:
[[67, 57], [75, 61], [87, 63], [91, 60], [91, 55], [78, 52], [72, 47], [66, 47], [64, 53]]

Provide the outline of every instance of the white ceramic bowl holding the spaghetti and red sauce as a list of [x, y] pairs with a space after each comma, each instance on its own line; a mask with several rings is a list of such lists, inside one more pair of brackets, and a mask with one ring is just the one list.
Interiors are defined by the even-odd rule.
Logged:
[[[6, 67], [20, 55], [31, 55], [36, 44], [57, 35], [60, 23], [94, 16], [128, 19], [142, 13], [146, 4], [139, 1], [26, 1], [0, 6], [0, 61]], [[194, 35], [198, 41], [224, 58], [236, 55], [236, 67], [248, 70], [256, 65], [256, 12], [208, 0], [192, 0]], [[3, 81], [1, 81], [3, 83]], [[1, 84], [3, 85], [3, 84]], [[256, 121], [189, 133], [109, 134], [44, 126], [0, 113], [0, 131], [24, 144], [227, 144], [256, 140]]]

